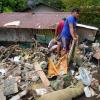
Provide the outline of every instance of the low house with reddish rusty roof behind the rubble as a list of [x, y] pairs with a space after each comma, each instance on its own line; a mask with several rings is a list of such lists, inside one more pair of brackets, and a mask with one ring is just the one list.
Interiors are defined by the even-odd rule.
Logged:
[[[50, 37], [54, 36], [56, 23], [69, 14], [69, 12], [1, 13], [0, 41], [31, 42], [33, 37], [37, 37], [41, 42], [48, 43]], [[77, 26], [82, 38], [94, 40], [98, 28], [82, 24]]]

